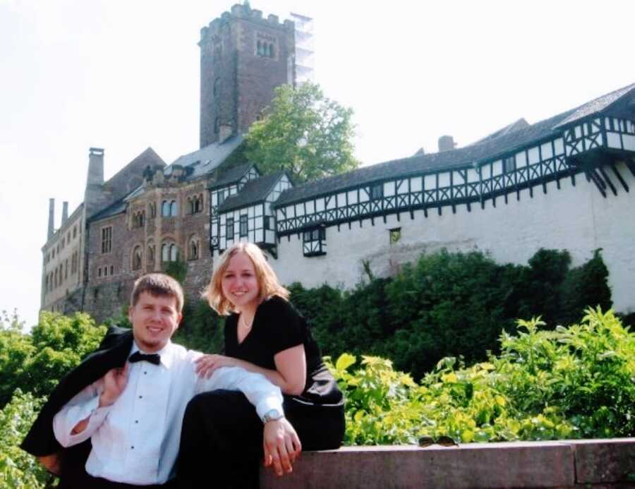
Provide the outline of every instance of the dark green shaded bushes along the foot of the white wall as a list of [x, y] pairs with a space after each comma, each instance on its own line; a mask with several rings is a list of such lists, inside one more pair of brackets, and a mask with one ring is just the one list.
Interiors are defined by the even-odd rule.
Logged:
[[497, 338], [516, 318], [540, 315], [555, 327], [579, 321], [588, 306], [610, 308], [600, 250], [580, 267], [570, 263], [567, 251], [538, 250], [523, 266], [442, 250], [351, 291], [289, 289], [325, 354], [391, 358], [418, 380], [444, 356], [473, 363], [497, 353]]

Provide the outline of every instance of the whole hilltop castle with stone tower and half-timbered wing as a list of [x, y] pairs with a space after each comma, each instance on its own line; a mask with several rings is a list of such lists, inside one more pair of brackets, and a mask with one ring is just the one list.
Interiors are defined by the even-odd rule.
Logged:
[[483, 250], [524, 263], [602, 248], [616, 310], [635, 311], [635, 84], [465, 147], [294, 186], [236, 151], [274, 87], [310, 78], [310, 19], [235, 5], [201, 31], [200, 149], [166, 164], [151, 148], [104, 182], [90, 148], [84, 202], [42, 248], [42, 309], [119, 313], [134, 280], [183, 260], [186, 294], [231, 243], [258, 243], [284, 283], [350, 287], [425, 252]]

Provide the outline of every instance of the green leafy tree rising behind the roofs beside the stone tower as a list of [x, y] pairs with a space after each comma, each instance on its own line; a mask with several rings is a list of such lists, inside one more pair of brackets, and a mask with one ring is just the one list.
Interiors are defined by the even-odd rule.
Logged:
[[265, 173], [288, 170], [298, 182], [354, 169], [353, 110], [328, 99], [318, 85], [277, 87], [265, 118], [246, 136], [246, 156]]

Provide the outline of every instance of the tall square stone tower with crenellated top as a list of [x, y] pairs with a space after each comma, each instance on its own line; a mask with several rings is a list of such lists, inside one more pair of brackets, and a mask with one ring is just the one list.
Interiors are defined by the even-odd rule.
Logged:
[[248, 4], [201, 29], [200, 147], [244, 133], [274, 97], [294, 83], [294, 23], [262, 18]]

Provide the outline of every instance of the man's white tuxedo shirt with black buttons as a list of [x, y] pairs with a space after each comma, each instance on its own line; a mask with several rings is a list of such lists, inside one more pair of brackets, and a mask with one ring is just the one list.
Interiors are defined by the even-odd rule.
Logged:
[[[131, 354], [138, 351], [133, 344]], [[157, 352], [158, 366], [128, 362], [128, 383], [111, 406], [98, 407], [103, 381], [79, 392], [56, 414], [55, 437], [63, 447], [91, 438], [86, 461], [91, 476], [136, 485], [162, 484], [174, 476], [179, 454], [183, 413], [189, 400], [216, 389], [240, 390], [262, 416], [270, 409], [282, 412], [282, 393], [264, 375], [243, 368], [215, 370], [209, 379], [195, 372], [201, 354], [169, 342]], [[82, 433], [71, 431], [90, 416]]]

